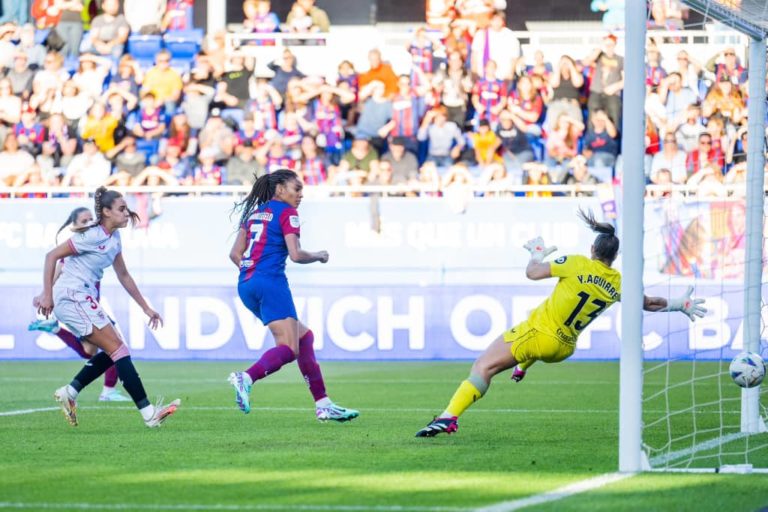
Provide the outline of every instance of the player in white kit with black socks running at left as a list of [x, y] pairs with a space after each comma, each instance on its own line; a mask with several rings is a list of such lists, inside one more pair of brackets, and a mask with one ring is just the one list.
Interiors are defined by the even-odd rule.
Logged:
[[[43, 292], [34, 302], [39, 313], [47, 317], [53, 312], [72, 333], [102, 350], [86, 363], [72, 382], [57, 389], [53, 396], [69, 423], [76, 426], [77, 395], [114, 365], [144, 423], [148, 427], [157, 427], [176, 411], [180, 400], [167, 405], [150, 404], [128, 347], [96, 300], [96, 283], [101, 281], [104, 269], [112, 266], [120, 284], [149, 317], [149, 326], [155, 329], [162, 325], [162, 318], [144, 300], [123, 260], [118, 230], [126, 227], [128, 221], [135, 223], [138, 215], [128, 209], [119, 192], [104, 187], [96, 190], [94, 212], [94, 224], [76, 230], [72, 238], [45, 256]], [[54, 285], [56, 263], [62, 258], [67, 258], [67, 262]]]

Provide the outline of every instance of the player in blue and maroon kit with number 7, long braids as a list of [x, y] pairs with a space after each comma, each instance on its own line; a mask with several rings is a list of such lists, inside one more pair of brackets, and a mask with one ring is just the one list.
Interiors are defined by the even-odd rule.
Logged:
[[315, 359], [314, 335], [298, 320], [285, 277], [288, 256], [296, 263], [328, 262], [327, 251], [305, 251], [299, 243], [301, 224], [296, 208], [301, 203], [302, 189], [295, 172], [280, 169], [256, 180], [251, 192], [235, 208], [240, 212], [240, 229], [229, 257], [240, 269], [237, 291], [243, 304], [269, 327], [275, 347], [244, 372], [231, 373], [229, 382], [235, 388], [237, 406], [247, 414], [253, 383], [297, 360], [315, 399], [317, 419], [348, 421], [360, 413], [328, 398]]

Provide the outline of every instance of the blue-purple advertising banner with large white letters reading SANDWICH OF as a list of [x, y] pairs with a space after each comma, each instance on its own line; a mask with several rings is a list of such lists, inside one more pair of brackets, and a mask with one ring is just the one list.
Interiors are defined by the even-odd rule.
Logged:
[[[526, 318], [551, 291], [549, 285], [317, 286], [296, 287], [302, 321], [315, 332], [320, 359], [471, 359], [496, 336]], [[3, 288], [0, 359], [74, 358], [56, 336], [28, 332], [35, 286]], [[231, 286], [148, 286], [143, 290], [165, 325], [146, 318], [119, 287], [103, 290], [102, 304], [138, 358], [251, 360], [272, 346], [268, 330]], [[684, 287], [646, 293], [675, 296]], [[642, 341], [647, 359], [730, 359], [742, 350], [738, 287], [699, 287], [709, 315], [691, 323], [680, 313], [646, 314]], [[581, 335], [574, 359], [619, 357], [620, 305]], [[639, 342], [639, 340], [638, 340]]]

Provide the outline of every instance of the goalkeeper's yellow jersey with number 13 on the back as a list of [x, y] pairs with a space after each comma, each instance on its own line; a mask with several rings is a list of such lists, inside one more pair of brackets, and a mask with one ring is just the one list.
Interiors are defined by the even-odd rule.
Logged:
[[561, 256], [550, 268], [560, 280], [531, 312], [528, 324], [565, 343], [576, 343], [592, 320], [621, 300], [621, 274], [602, 261], [579, 255]]

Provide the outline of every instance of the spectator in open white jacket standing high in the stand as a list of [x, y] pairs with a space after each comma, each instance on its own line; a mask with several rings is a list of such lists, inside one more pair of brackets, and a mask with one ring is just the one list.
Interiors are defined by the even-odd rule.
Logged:
[[501, 80], [512, 78], [512, 71], [520, 58], [520, 41], [506, 26], [504, 13], [497, 11], [491, 17], [488, 27], [475, 32], [470, 57], [472, 72], [483, 77], [489, 61], [496, 62], [496, 77]]

